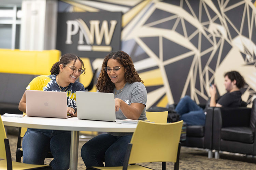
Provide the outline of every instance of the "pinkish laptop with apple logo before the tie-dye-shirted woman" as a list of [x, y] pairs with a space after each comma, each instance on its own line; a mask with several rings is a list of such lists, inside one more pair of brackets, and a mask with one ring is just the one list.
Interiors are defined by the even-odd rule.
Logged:
[[26, 90], [28, 116], [68, 118], [67, 93], [60, 91]]

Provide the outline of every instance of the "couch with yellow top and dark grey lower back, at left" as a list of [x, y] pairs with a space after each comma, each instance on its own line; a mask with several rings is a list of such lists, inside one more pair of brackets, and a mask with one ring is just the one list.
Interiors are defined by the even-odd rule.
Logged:
[[25, 88], [34, 77], [50, 74], [60, 55], [59, 50], [0, 49], [0, 114], [23, 114], [18, 110], [18, 103]]

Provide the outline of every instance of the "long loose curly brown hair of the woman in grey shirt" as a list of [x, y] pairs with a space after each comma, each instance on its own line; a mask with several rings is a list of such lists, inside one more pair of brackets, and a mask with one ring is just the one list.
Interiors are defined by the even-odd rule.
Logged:
[[104, 58], [100, 75], [98, 77], [97, 85], [96, 88], [99, 90], [99, 92], [108, 92], [112, 93], [115, 85], [112, 83], [112, 81], [109, 78], [108, 73], [105, 71], [104, 67], [107, 66], [107, 63], [109, 59], [114, 59], [118, 63], [122, 64], [125, 68], [125, 81], [128, 83], [133, 83], [133, 82], [142, 82], [144, 81], [141, 80], [139, 77], [139, 74], [137, 73], [136, 69], [134, 68], [133, 62], [131, 60], [131, 57], [124, 51], [116, 51], [116, 52], [111, 52], [109, 55], [107, 55]]

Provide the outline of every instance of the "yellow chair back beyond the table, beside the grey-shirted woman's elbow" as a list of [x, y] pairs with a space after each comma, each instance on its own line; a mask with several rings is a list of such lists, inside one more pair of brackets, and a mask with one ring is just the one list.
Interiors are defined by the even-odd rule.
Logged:
[[147, 112], [147, 120], [155, 123], [167, 123], [168, 111], [165, 112]]

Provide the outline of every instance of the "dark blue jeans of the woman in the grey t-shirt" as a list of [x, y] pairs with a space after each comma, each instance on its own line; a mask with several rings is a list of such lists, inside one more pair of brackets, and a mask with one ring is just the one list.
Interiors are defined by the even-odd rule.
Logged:
[[[113, 136], [100, 134], [90, 139], [81, 149], [81, 157], [86, 167], [122, 166], [128, 143], [132, 135]], [[105, 160], [104, 160], [105, 156]]]

